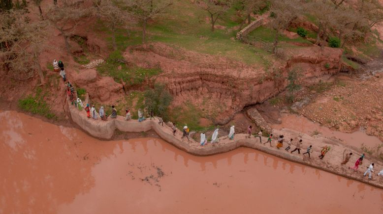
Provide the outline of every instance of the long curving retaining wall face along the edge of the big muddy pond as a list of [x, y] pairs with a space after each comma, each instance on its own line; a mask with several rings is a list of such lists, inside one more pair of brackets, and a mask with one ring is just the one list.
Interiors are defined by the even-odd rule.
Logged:
[[[114, 131], [116, 129], [122, 132], [147, 132], [153, 129], [163, 140], [192, 155], [210, 156], [228, 152], [238, 147], [248, 147], [279, 158], [319, 168], [321, 170], [334, 173], [352, 180], [363, 182], [374, 187], [383, 188], [383, 184], [380, 182], [382, 180], [381, 178], [375, 178], [371, 181], [363, 179], [364, 177], [361, 176], [360, 173], [350, 173], [350, 170], [347, 171], [345, 166], [339, 167], [338, 165], [333, 165], [325, 161], [320, 165], [317, 164], [315, 161], [305, 160], [305, 158], [302, 159], [299, 156], [291, 155], [289, 152], [283, 151], [283, 149], [276, 150], [275, 148], [264, 146], [262, 143], [259, 143], [258, 137], [246, 138], [247, 134], [236, 134], [235, 141], [229, 140], [226, 136], [223, 136], [219, 138], [219, 142], [217, 143], [207, 143], [204, 146], [200, 146], [199, 143], [193, 139], [191, 139], [190, 141], [188, 141], [186, 138], [182, 139], [182, 133], [179, 130], [177, 131], [176, 136], [173, 136], [171, 128], [166, 125], [161, 126], [158, 123], [157, 118], [155, 118], [154, 120], [147, 119], [143, 122], [138, 122], [137, 120], [125, 121], [124, 117], [122, 116], [118, 116], [116, 119], [110, 118], [107, 121], [102, 121], [100, 119], [94, 120], [92, 118], [88, 118], [84, 110], [79, 111], [76, 107], [70, 105], [69, 103], [68, 105], [73, 122], [75, 122], [83, 130], [85, 130], [92, 136], [98, 138], [110, 139], [113, 136]], [[262, 137], [262, 141], [265, 142], [265, 140], [266, 138]], [[378, 167], [382, 166], [376, 164], [376, 171]]]

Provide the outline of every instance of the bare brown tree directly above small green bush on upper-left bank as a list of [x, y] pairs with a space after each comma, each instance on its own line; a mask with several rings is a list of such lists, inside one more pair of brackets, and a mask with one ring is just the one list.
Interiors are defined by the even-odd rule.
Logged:
[[[135, 23], [132, 13], [127, 10], [122, 0], [95, 0], [94, 13], [103, 20], [112, 31], [113, 49], [117, 50], [116, 29], [118, 26], [128, 27]], [[125, 7], [125, 8], [124, 8]]]

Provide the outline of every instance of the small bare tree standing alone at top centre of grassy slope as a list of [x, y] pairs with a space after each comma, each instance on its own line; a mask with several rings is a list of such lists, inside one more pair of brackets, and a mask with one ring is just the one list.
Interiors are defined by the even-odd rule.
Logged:
[[214, 31], [218, 18], [230, 8], [231, 0], [196, 0], [195, 4], [209, 13], [211, 29]]

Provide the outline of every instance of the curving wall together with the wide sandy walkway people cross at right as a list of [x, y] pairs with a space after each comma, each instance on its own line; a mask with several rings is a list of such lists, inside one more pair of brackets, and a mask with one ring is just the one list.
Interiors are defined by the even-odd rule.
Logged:
[[[118, 116], [115, 119], [109, 118], [107, 121], [101, 119], [94, 120], [88, 118], [86, 112], [79, 111], [76, 107], [68, 103], [69, 112], [73, 122], [79, 125], [83, 130], [88, 132], [90, 135], [102, 139], [111, 139], [115, 130], [121, 132], [147, 132], [154, 130], [163, 140], [174, 145], [175, 147], [184, 150], [192, 155], [196, 156], [210, 156], [219, 153], [228, 152], [238, 147], [248, 147], [255, 150], [265, 152], [270, 155], [274, 155], [279, 158], [294, 161], [311, 167], [315, 167], [336, 175], [340, 175], [352, 180], [360, 181], [369, 184], [374, 187], [383, 188], [383, 178], [378, 177], [376, 173], [383, 168], [381, 162], [375, 162], [375, 172], [373, 180], [368, 180], [367, 177], [363, 177], [363, 172], [366, 169], [366, 165], [370, 164], [371, 160], [364, 159], [364, 164], [359, 167], [359, 171], [353, 172], [348, 166], [352, 167], [356, 158], [358, 158], [358, 151], [345, 146], [339, 140], [330, 139], [326, 137], [313, 137], [307, 134], [298, 133], [293, 130], [273, 130], [274, 135], [284, 134], [286, 139], [294, 138], [303, 139], [303, 146], [301, 147], [302, 153], [305, 152], [308, 145], [313, 145], [314, 152], [312, 153], [311, 159], [302, 154], [291, 154], [286, 152], [284, 148], [277, 149], [275, 147], [275, 141], [272, 144], [274, 147], [270, 147], [269, 144], [263, 145], [259, 143], [258, 137], [246, 138], [247, 134], [236, 134], [234, 140], [229, 140], [226, 136], [220, 137], [217, 143], [207, 143], [204, 146], [200, 146], [199, 142], [196, 142], [191, 138], [188, 141], [186, 138], [181, 139], [182, 132], [177, 130], [176, 136], [173, 136], [172, 129], [164, 124], [161, 126], [158, 123], [158, 119], [150, 120], [147, 119], [143, 122], [137, 120], [124, 120], [124, 117]], [[265, 142], [266, 138], [262, 137], [262, 142]], [[318, 155], [320, 148], [324, 145], [331, 146], [331, 150], [326, 154], [323, 160], [319, 160]], [[292, 149], [294, 146], [292, 146]], [[355, 155], [351, 158], [349, 163], [341, 165], [340, 162], [343, 159], [343, 151], [346, 149], [347, 152], [352, 152]], [[290, 150], [291, 151], [291, 150]]]

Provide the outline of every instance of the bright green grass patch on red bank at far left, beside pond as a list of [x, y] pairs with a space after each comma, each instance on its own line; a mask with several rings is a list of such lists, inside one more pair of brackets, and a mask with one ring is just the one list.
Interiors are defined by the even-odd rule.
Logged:
[[35, 96], [28, 95], [18, 101], [20, 109], [31, 112], [32, 114], [38, 114], [46, 118], [56, 118], [56, 115], [51, 112], [51, 108], [44, 100], [46, 94], [42, 94], [42, 90], [37, 88]]

